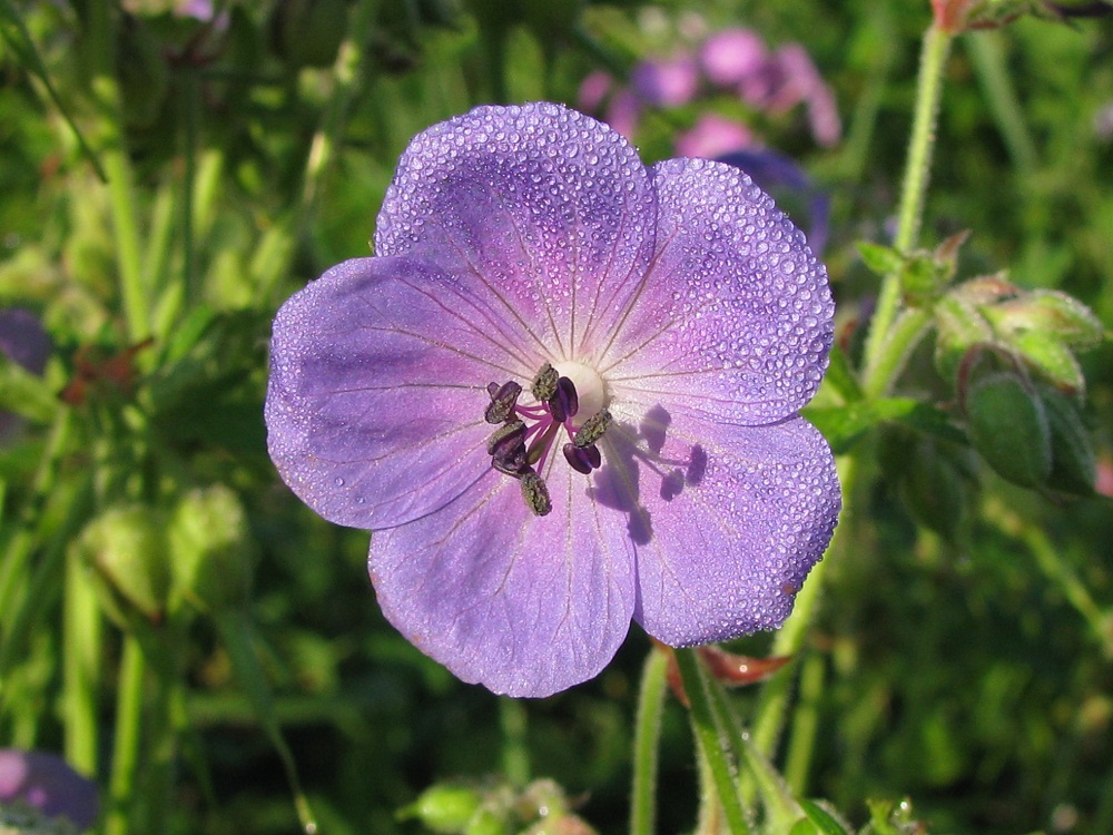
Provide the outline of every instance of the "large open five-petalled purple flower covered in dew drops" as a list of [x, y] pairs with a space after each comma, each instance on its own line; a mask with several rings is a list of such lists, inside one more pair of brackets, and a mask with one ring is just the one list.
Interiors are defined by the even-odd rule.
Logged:
[[631, 618], [672, 646], [780, 625], [840, 504], [797, 414], [834, 305], [746, 175], [482, 107], [410, 145], [375, 253], [278, 312], [266, 419], [287, 484], [374, 532], [411, 641], [545, 696]]

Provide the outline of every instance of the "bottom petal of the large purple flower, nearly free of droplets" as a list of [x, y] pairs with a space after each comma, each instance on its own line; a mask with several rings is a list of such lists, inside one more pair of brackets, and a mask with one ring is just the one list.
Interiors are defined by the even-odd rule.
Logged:
[[[633, 611], [633, 551], [604, 524], [588, 480], [549, 468], [553, 510], [533, 515], [492, 473], [440, 512], [372, 536], [387, 619], [464, 681], [549, 696], [595, 676]], [[607, 520], [614, 521], [614, 520]]]

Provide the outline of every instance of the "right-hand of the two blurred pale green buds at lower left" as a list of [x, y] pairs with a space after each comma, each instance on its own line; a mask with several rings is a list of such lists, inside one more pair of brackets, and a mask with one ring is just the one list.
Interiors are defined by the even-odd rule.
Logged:
[[252, 583], [247, 514], [223, 484], [186, 493], [170, 520], [175, 590], [203, 611], [243, 605]]

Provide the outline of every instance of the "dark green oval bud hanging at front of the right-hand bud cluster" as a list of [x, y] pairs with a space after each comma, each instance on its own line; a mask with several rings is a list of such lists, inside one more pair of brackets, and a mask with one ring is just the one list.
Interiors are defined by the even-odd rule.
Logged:
[[1043, 485], [1051, 474], [1051, 429], [1043, 402], [1026, 381], [991, 373], [966, 392], [971, 443], [1003, 479], [1021, 487]]

